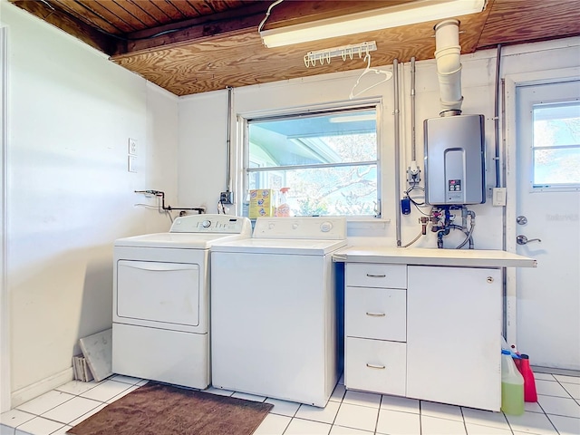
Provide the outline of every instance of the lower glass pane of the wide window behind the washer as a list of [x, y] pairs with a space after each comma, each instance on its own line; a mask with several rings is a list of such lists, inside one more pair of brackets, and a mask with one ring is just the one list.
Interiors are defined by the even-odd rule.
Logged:
[[[377, 166], [275, 169], [250, 173], [249, 189], [289, 187], [291, 216], [374, 216]], [[284, 180], [284, 181], [283, 181]]]

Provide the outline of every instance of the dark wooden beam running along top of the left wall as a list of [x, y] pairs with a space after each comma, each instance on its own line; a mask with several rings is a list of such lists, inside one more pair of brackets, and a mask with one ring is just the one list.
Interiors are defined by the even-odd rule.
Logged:
[[71, 14], [67, 14], [57, 5], [53, 6], [47, 2], [34, 0], [8, 1], [46, 23], [53, 24], [53, 26], [61, 29], [63, 32], [73, 35], [83, 43], [88, 43], [102, 53], [112, 54], [117, 51], [118, 42], [112, 36], [95, 30], [89, 24], [85, 24]]

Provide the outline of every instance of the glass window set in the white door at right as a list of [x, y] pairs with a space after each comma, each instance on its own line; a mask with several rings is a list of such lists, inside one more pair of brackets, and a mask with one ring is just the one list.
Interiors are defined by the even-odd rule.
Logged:
[[580, 102], [538, 104], [533, 118], [534, 186], [580, 185]]

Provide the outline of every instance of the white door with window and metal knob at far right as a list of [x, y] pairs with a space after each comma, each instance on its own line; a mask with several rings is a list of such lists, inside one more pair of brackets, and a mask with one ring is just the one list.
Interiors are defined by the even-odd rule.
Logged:
[[516, 103], [517, 254], [538, 263], [517, 270], [517, 348], [580, 370], [580, 81], [518, 86]]

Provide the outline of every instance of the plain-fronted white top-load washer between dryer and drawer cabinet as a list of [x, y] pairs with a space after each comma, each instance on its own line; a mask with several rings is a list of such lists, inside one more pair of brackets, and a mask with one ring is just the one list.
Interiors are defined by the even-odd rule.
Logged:
[[257, 218], [212, 247], [212, 384], [324, 407], [338, 379], [332, 253], [344, 218]]

